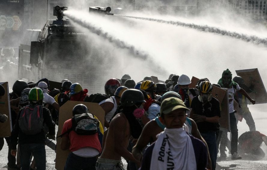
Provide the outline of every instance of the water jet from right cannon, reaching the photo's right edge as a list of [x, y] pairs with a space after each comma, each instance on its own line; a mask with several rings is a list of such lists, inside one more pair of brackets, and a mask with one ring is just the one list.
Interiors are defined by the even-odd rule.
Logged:
[[163, 19], [127, 16], [127, 15], [119, 15], [119, 14], [114, 14], [114, 15], [127, 17], [127, 18], [142, 19], [142, 20], [147, 20], [147, 21], [155, 21], [155, 22], [159, 22], [159, 23], [166, 23], [166, 24], [182, 26], [182, 27], [187, 27], [187, 28], [193, 28], [193, 29], [196, 29], [199, 31], [221, 34], [221, 35], [233, 37], [236, 39], [244, 40], [246, 42], [252, 42], [254, 44], [264, 44], [265, 46], [267, 46], [267, 38], [260, 38], [260, 37], [254, 36], [254, 35], [246, 35], [246, 34], [240, 34], [237, 32], [226, 31], [226, 30], [216, 28], [216, 27], [211, 27], [208, 25], [196, 25], [193, 23], [185, 23], [185, 22], [180, 22], [180, 21], [167, 21], [167, 20], [163, 20]]

